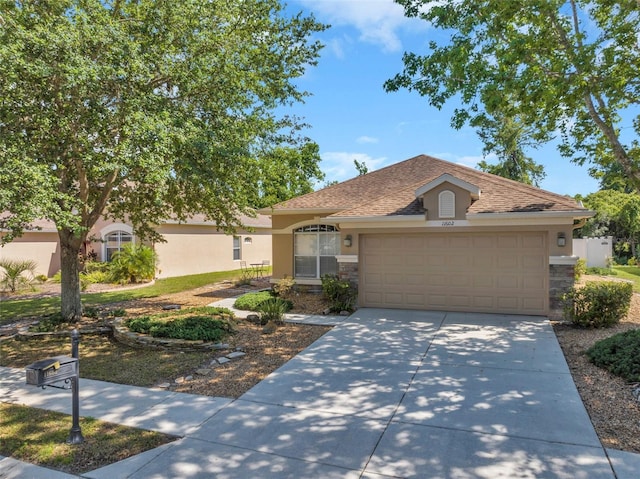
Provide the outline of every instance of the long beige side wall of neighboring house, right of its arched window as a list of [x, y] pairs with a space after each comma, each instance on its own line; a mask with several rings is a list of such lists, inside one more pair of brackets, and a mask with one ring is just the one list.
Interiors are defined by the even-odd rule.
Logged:
[[212, 226], [165, 225], [158, 228], [165, 243], [156, 243], [158, 278], [240, 269], [240, 261], [271, 261], [268, 231], [239, 231], [241, 259], [233, 259], [233, 236]]

